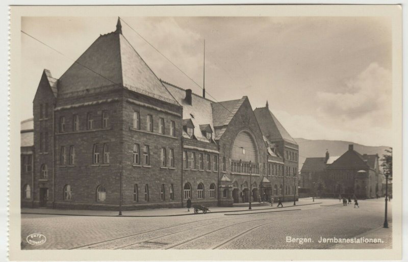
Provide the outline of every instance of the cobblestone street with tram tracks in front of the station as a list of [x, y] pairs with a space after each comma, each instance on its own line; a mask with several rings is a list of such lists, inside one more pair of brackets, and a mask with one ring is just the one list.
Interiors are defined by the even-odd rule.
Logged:
[[[360, 208], [343, 206], [338, 200], [318, 201], [321, 203], [254, 208], [251, 212], [172, 217], [22, 214], [21, 246], [23, 249], [350, 249], [364, 244], [336, 245], [319, 240], [364, 237], [384, 222], [384, 198], [360, 200]], [[391, 207], [390, 202], [390, 225]], [[391, 229], [381, 232], [388, 234]], [[45, 235], [46, 242], [39, 246], [28, 244], [25, 238], [32, 233]], [[378, 232], [374, 235], [381, 238]], [[312, 241], [287, 242], [287, 237]], [[385, 243], [371, 244], [369, 248], [391, 247], [391, 237], [381, 239]]]

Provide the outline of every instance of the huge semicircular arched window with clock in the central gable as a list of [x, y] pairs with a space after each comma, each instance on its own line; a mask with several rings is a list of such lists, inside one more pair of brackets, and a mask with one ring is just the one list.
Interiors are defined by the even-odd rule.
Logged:
[[[245, 154], [243, 154], [242, 149], [245, 149]], [[257, 146], [248, 132], [241, 132], [235, 138], [232, 149], [232, 159], [258, 163]]]

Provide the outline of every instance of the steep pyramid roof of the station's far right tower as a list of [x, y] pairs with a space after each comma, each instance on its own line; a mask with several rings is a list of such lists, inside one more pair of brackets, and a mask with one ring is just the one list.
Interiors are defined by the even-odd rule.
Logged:
[[253, 113], [257, 117], [262, 134], [270, 141], [285, 140], [297, 145], [296, 141], [289, 135], [281, 122], [269, 111], [268, 107], [256, 108]]

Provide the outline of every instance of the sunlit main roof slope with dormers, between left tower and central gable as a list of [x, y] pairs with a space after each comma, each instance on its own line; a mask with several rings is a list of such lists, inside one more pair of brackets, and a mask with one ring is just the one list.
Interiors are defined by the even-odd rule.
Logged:
[[[211, 108], [212, 101], [192, 93], [191, 104], [189, 104], [185, 100], [186, 90], [164, 81], [162, 81], [162, 83], [174, 99], [183, 107], [183, 124], [186, 119], [191, 120], [195, 127], [194, 136], [196, 139], [202, 142], [210, 142], [207, 137], [203, 136], [200, 131], [201, 129], [198, 129], [204, 125], [207, 130], [211, 129], [212, 132], [214, 132], [213, 111]], [[188, 137], [187, 134], [186, 136]]]

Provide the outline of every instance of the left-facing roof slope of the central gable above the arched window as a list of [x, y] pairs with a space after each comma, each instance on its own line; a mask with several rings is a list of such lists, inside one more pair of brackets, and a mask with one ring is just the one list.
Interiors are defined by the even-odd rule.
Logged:
[[246, 98], [246, 96], [243, 96], [237, 100], [213, 102], [211, 106], [213, 109], [214, 126], [228, 125]]

